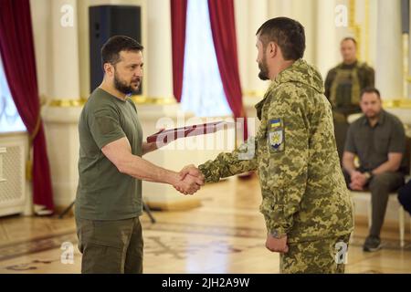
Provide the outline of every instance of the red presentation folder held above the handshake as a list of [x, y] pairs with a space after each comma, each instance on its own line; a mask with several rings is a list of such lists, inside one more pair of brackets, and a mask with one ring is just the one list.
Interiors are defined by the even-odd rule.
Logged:
[[157, 142], [169, 143], [179, 138], [193, 137], [193, 136], [198, 136], [198, 135], [214, 133], [217, 130], [223, 130], [225, 125], [233, 126], [235, 125], [235, 123], [220, 120], [216, 122], [208, 122], [205, 124], [174, 128], [170, 130], [160, 130], [159, 132], [156, 132], [155, 134], [147, 137], [147, 142], [152, 143], [152, 142], [157, 141]]

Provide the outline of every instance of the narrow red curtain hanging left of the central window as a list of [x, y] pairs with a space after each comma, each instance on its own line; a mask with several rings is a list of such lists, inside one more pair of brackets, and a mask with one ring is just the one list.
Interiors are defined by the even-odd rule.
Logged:
[[178, 102], [181, 101], [183, 91], [186, 14], [187, 0], [171, 0], [173, 88]]

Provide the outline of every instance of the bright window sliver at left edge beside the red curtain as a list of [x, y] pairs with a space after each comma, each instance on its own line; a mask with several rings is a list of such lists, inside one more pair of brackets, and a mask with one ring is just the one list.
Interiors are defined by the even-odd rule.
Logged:
[[12, 131], [26, 131], [26, 127], [12, 99], [0, 57], [0, 133]]

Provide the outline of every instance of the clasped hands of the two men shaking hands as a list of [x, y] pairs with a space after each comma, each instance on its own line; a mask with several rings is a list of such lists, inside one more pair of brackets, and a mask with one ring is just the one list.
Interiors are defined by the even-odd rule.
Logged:
[[205, 177], [195, 165], [185, 166], [179, 173], [178, 179], [173, 183], [174, 189], [180, 193], [193, 194], [204, 185]]

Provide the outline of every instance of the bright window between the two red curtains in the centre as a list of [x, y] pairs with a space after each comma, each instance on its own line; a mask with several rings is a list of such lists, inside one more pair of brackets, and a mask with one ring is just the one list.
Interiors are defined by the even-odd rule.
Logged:
[[188, 0], [182, 108], [198, 117], [230, 116], [216, 60], [207, 0]]

